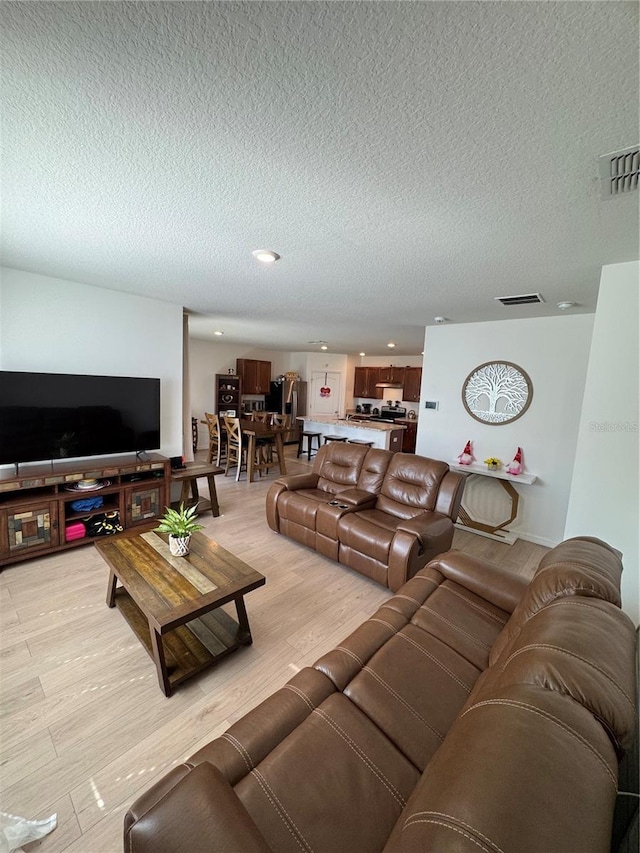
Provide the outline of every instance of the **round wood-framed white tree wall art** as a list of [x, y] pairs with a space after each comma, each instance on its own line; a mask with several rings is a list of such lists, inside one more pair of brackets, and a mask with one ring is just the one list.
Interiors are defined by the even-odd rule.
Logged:
[[532, 398], [531, 379], [510, 361], [486, 361], [471, 371], [462, 386], [462, 402], [467, 412], [491, 426], [522, 417]]

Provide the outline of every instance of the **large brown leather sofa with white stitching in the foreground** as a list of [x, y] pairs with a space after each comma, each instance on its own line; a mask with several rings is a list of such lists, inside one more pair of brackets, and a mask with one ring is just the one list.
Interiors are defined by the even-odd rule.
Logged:
[[608, 853], [637, 726], [619, 555], [450, 551], [131, 807], [127, 853]]

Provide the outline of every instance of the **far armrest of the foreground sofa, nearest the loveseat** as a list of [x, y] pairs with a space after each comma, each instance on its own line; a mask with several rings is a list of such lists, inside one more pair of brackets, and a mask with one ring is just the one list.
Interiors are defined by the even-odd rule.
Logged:
[[530, 583], [530, 578], [516, 575], [488, 560], [462, 551], [452, 550], [441, 554], [429, 563], [429, 568], [436, 569], [449, 580], [507, 613], [513, 613]]

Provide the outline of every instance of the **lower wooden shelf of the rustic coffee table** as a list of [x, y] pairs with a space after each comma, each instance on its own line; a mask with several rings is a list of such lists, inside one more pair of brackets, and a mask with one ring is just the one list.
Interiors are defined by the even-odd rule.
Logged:
[[[124, 587], [116, 588], [115, 605], [158, 667], [149, 622]], [[240, 646], [250, 645], [252, 639], [249, 631], [217, 608], [162, 634], [160, 643], [164, 650], [165, 672], [159, 672], [158, 676], [161, 686], [163, 681], [166, 685], [166, 695], [170, 696], [178, 684], [213, 666]]]

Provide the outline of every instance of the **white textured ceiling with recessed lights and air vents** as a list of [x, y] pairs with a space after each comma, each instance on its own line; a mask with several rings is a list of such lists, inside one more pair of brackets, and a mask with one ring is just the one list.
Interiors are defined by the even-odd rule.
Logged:
[[[6, 266], [183, 304], [225, 343], [418, 353], [593, 311], [638, 257], [638, 4], [0, 4]], [[269, 248], [271, 267], [251, 251]], [[495, 296], [540, 292], [541, 306]]]

